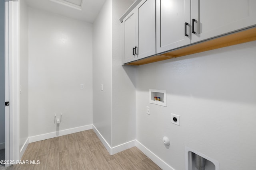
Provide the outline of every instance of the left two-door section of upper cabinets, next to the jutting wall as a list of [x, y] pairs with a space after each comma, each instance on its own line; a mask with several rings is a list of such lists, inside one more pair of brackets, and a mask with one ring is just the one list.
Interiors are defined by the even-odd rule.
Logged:
[[122, 63], [156, 54], [156, 1], [142, 0], [122, 22]]

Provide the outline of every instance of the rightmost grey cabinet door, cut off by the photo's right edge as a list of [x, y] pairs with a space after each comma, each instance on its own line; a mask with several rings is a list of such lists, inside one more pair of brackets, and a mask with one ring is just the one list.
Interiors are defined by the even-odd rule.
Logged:
[[256, 24], [256, 0], [191, 0], [194, 31], [191, 42]]

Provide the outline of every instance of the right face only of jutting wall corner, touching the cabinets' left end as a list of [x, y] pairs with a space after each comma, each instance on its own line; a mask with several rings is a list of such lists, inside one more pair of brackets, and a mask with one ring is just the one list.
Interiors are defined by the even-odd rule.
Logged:
[[135, 139], [136, 67], [122, 66], [119, 19], [133, 0], [112, 0], [112, 147]]

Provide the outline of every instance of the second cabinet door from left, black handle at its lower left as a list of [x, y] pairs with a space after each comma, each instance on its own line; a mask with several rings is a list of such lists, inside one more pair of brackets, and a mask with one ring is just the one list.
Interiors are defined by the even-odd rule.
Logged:
[[156, 54], [156, 0], [142, 0], [136, 16], [136, 59], [142, 59]]

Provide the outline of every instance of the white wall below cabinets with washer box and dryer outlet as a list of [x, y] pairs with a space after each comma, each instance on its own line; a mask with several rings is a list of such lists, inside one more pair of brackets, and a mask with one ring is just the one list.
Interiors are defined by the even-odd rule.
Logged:
[[[253, 41], [138, 66], [136, 139], [175, 170], [185, 169], [185, 146], [222, 170], [256, 169], [255, 47]], [[149, 104], [149, 89], [167, 90], [167, 107]], [[171, 113], [180, 115], [180, 126], [170, 123]]]

